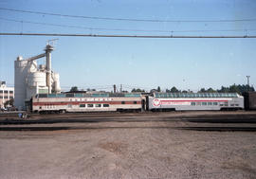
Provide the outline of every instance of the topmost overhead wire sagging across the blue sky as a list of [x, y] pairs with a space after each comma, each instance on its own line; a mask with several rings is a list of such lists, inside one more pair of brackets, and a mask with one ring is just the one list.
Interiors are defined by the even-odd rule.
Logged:
[[60, 17], [80, 18], [80, 19], [109, 20], [109, 21], [131, 21], [131, 22], [151, 22], [151, 23], [232, 23], [232, 22], [256, 21], [256, 18], [252, 18], [252, 19], [218, 19], [218, 20], [133, 19], [133, 18], [114, 18], [114, 17], [69, 15], [69, 14], [43, 12], [43, 11], [32, 11], [32, 10], [22, 10], [22, 9], [0, 8], [0, 10], [8, 10], [8, 11], [15, 11], [15, 12], [22, 12], [22, 13], [31, 13], [31, 14], [60, 16]]

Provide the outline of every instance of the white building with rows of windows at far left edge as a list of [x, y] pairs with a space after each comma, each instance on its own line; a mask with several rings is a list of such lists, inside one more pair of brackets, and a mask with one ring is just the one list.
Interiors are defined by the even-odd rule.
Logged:
[[14, 98], [14, 88], [8, 87], [6, 81], [0, 81], [0, 108], [4, 108], [5, 102]]

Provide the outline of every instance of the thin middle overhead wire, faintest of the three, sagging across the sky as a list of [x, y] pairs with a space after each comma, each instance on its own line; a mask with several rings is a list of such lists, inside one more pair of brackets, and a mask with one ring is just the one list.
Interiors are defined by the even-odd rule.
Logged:
[[70, 28], [80, 28], [80, 29], [88, 29], [88, 30], [113, 30], [113, 31], [141, 31], [141, 32], [163, 32], [163, 33], [184, 33], [184, 32], [225, 32], [225, 31], [255, 31], [256, 29], [216, 29], [216, 30], [205, 30], [205, 29], [194, 29], [194, 30], [159, 30], [159, 29], [133, 29], [133, 28], [101, 28], [101, 27], [82, 27], [82, 26], [70, 26], [70, 25], [60, 25], [60, 24], [52, 24], [52, 23], [39, 23], [32, 21], [23, 21], [23, 20], [15, 20], [9, 18], [0, 17], [0, 20], [16, 22], [16, 23], [27, 23], [34, 25], [42, 25], [42, 26], [51, 26], [51, 27], [70, 27]]

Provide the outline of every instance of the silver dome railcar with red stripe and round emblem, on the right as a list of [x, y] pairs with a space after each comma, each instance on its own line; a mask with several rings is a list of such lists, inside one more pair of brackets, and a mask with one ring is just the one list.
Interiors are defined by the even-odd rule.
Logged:
[[154, 93], [147, 98], [151, 111], [237, 110], [244, 98], [236, 93]]

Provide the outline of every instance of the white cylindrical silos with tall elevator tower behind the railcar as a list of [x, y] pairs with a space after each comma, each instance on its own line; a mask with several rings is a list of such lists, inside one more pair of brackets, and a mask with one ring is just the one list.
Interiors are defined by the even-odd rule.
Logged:
[[[46, 45], [45, 53], [23, 59], [18, 56], [14, 62], [14, 105], [26, 109], [26, 102], [36, 94], [60, 93], [59, 74], [51, 70], [52, 45]], [[46, 57], [46, 64], [38, 65], [36, 60]]]

